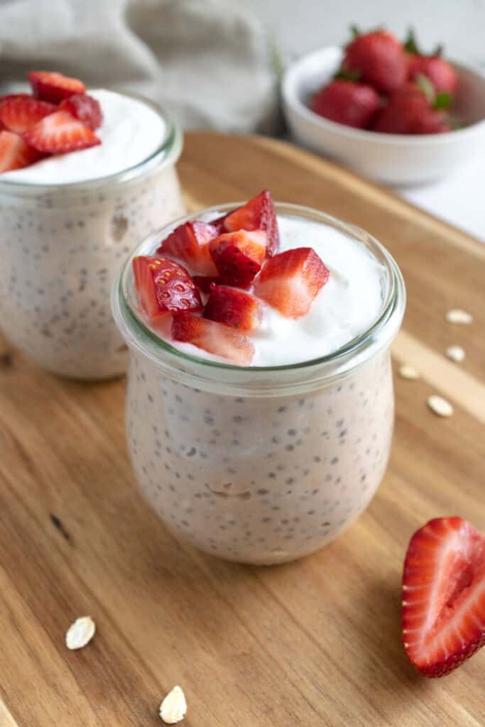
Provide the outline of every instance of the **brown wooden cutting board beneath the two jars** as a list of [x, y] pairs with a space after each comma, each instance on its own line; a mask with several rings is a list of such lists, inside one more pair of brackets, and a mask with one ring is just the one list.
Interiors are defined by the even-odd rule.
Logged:
[[[310, 558], [255, 568], [196, 552], [148, 510], [125, 450], [123, 380], [57, 379], [5, 345], [0, 726], [156, 726], [174, 684], [188, 727], [483, 726], [485, 650], [425, 680], [399, 622], [412, 532], [447, 514], [485, 530], [485, 246], [282, 142], [188, 134], [179, 169], [191, 208], [268, 187], [380, 238], [409, 294], [394, 362], [422, 378], [396, 379], [393, 454], [358, 523]], [[473, 324], [446, 323], [455, 307]], [[451, 344], [465, 348], [460, 365], [443, 356]], [[427, 408], [432, 393], [452, 401], [451, 419]], [[65, 630], [83, 614], [97, 634], [70, 652]]]

